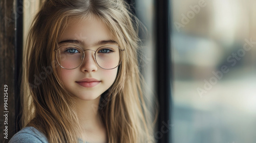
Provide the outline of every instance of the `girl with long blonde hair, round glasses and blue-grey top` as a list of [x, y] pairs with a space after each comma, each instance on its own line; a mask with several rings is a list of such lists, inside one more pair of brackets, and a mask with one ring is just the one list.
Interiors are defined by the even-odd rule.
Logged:
[[153, 142], [138, 22], [127, 8], [121, 0], [42, 5], [25, 52], [26, 128], [10, 142]]

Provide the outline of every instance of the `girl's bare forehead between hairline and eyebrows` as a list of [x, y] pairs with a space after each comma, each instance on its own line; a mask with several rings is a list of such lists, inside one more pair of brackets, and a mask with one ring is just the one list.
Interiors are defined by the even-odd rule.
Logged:
[[110, 29], [99, 18], [70, 19], [58, 42], [78, 40], [84, 45], [93, 45], [97, 41], [115, 39]]

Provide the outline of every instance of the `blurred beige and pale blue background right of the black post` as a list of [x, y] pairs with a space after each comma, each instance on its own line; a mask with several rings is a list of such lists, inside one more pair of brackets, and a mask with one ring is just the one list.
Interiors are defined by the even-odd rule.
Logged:
[[174, 143], [256, 142], [255, 6], [170, 1]]

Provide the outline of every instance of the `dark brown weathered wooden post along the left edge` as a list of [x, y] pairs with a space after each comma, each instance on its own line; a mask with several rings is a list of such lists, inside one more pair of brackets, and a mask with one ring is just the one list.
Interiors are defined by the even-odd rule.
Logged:
[[17, 131], [18, 79], [22, 61], [22, 22], [17, 19], [22, 19], [23, 14], [18, 3], [21, 5], [22, 1], [0, 1], [0, 142], [8, 142]]

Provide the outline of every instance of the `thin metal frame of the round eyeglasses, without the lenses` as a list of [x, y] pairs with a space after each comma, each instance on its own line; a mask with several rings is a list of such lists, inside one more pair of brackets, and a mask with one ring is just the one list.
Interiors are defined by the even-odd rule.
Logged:
[[[100, 68], [102, 68], [102, 67], [98, 64], [98, 62], [97, 62], [97, 60], [96, 60], [96, 51], [97, 51], [98, 49], [100, 49], [101, 47], [103, 47], [103, 46], [115, 46], [115, 47], [118, 47], [118, 49], [120, 50], [120, 54], [121, 54], [121, 58], [119, 59], [120, 61], [119, 61], [118, 65], [116, 66], [116, 67], [118, 67], [118, 66], [121, 64], [121, 62], [122, 62], [122, 57], [123, 57], [123, 55], [122, 55], [121, 52], [125, 51], [125, 49], [121, 49], [119, 46], [116, 46], [116, 45], [103, 45], [103, 46], [98, 47], [97, 50], [94, 51], [94, 50], [92, 50], [92, 49], [83, 50], [80, 46], [74, 45], [74, 44], [63, 44], [63, 45], [60, 45], [56, 50], [54, 50], [54, 52], [56, 52], [56, 55], [55, 55], [55, 56], [56, 56], [56, 59], [57, 59], [57, 63], [58, 63], [59, 66], [60, 66], [61, 68], [63, 68], [63, 69], [75, 69], [75, 68], [77, 68], [77, 67], [75, 67], [75, 68], [65, 68], [65, 67], [63, 67], [63, 66], [60, 65], [60, 63], [59, 63], [59, 61], [58, 61], [58, 58], [57, 58], [57, 54], [58, 54], [57, 51], [59, 50], [59, 48], [60, 48], [61, 46], [65, 46], [65, 45], [77, 46], [77, 47], [79, 47], [79, 48], [82, 50], [82, 52], [83, 52], [82, 61], [81, 61], [81, 63], [80, 63], [77, 67], [79, 67], [79, 66], [83, 63], [84, 57], [86, 57], [85, 54], [84, 54], [84, 52], [86, 52], [86, 51], [93, 51], [93, 52], [94, 52], [93, 55], [94, 55], [94, 60], [95, 60], [95, 62], [97, 63], [97, 65], [98, 65]], [[119, 55], [119, 56], [120, 56], [120, 55]], [[114, 67], [114, 68], [116, 68], [116, 67]], [[114, 69], [114, 68], [110, 68], [110, 69]], [[102, 68], [102, 69], [106, 69], [106, 68]], [[108, 69], [107, 69], [107, 70], [108, 70]]]

